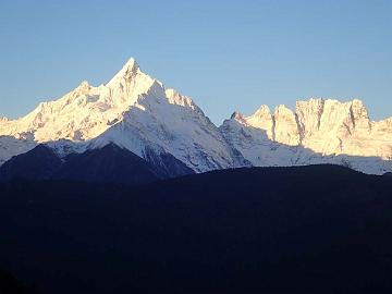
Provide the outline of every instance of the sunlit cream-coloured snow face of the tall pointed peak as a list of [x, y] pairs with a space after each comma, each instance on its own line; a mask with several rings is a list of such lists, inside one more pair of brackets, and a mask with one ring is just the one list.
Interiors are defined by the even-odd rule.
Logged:
[[155, 78], [144, 74], [135, 59], [131, 58], [107, 85], [94, 87], [83, 81], [63, 97], [39, 103], [20, 120], [5, 124], [5, 119], [1, 119], [3, 126], [0, 135], [19, 137], [22, 133], [32, 132], [37, 143], [93, 139], [113, 122], [121, 121], [122, 113], [139, 97], [148, 98], [154, 93], [164, 99], [162, 87]]

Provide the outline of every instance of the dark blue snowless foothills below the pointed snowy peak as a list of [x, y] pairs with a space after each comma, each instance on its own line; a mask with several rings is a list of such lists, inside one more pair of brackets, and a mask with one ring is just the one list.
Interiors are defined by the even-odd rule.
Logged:
[[151, 163], [114, 144], [71, 154], [63, 159], [51, 148], [39, 145], [0, 167], [0, 181], [25, 179], [139, 184], [191, 173], [189, 168], [170, 155], [157, 156]]

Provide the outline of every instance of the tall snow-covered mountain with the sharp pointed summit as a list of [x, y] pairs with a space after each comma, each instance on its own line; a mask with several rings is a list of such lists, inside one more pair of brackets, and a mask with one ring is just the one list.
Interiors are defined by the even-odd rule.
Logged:
[[114, 143], [158, 166], [171, 155], [196, 172], [246, 164], [189, 97], [164, 88], [134, 59], [106, 85], [83, 82], [22, 119], [2, 119], [0, 136], [0, 163], [40, 143], [61, 156]]

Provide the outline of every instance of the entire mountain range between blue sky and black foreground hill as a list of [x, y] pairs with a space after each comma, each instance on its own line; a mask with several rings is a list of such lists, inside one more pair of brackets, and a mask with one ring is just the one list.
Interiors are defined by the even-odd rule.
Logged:
[[189, 97], [130, 59], [105, 85], [83, 82], [21, 119], [0, 119], [0, 180], [134, 183], [319, 163], [391, 172], [392, 118], [371, 121], [357, 99], [310, 99], [297, 101], [295, 112], [284, 106], [261, 106], [249, 117], [234, 112], [218, 127]]

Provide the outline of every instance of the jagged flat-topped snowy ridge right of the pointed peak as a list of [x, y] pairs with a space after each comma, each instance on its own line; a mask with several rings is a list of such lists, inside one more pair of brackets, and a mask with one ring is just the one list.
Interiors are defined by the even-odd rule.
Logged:
[[261, 106], [234, 113], [220, 131], [257, 167], [334, 163], [375, 174], [392, 169], [392, 119], [373, 122], [360, 100], [297, 101], [295, 112]]

